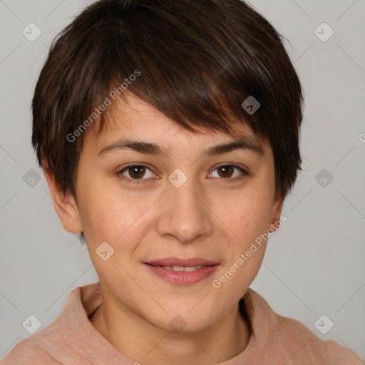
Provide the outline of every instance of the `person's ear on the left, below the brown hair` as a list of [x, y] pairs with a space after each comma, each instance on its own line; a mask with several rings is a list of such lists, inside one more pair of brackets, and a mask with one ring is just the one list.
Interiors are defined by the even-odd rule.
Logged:
[[54, 178], [54, 173], [50, 168], [48, 168], [48, 164], [46, 162], [42, 164], [42, 169], [44, 176], [46, 177], [49, 190], [51, 191], [53, 206], [56, 209], [58, 217], [61, 219], [63, 228], [71, 233], [83, 232], [74, 197], [71, 194], [66, 195], [59, 189]]

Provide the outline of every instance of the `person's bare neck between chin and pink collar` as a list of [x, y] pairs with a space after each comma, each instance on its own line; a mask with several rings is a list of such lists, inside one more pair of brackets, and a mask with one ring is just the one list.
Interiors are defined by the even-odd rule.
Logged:
[[238, 303], [215, 324], [198, 332], [165, 331], [110, 303], [96, 310], [91, 323], [121, 354], [144, 365], [217, 364], [244, 351], [250, 339], [250, 328]]

